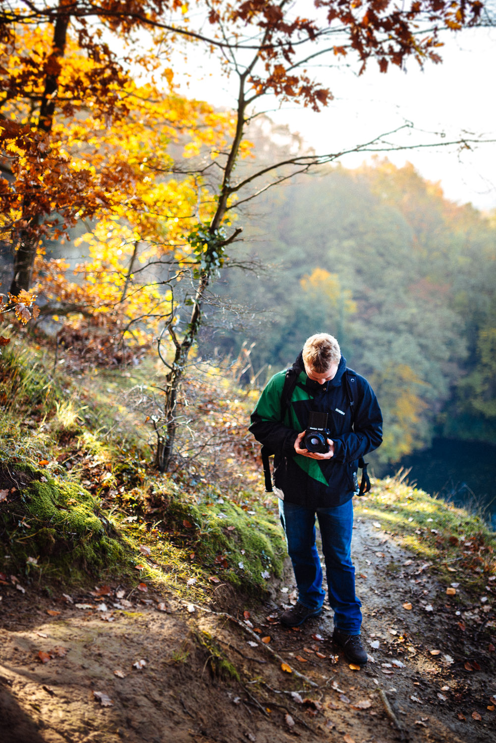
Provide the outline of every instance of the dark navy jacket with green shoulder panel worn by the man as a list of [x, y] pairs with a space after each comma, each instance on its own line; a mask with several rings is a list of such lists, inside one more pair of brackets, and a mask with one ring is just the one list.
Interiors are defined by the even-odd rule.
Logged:
[[[334, 379], [323, 385], [306, 376], [301, 354], [293, 366], [297, 385], [284, 418], [280, 400], [286, 372], [280, 371], [265, 386], [251, 414], [250, 431], [274, 452], [274, 485], [286, 501], [311, 508], [338, 506], [358, 492], [358, 459], [381, 444], [379, 403], [367, 380], [347, 369], [343, 356]], [[347, 383], [350, 373], [356, 386]], [[357, 399], [351, 404], [352, 389]], [[335, 445], [330, 459], [319, 461], [294, 451], [294, 441], [306, 429], [310, 411], [328, 414], [327, 427]]]

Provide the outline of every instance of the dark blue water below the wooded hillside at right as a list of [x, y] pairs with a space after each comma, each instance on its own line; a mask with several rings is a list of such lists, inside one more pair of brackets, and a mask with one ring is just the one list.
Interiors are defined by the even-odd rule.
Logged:
[[394, 467], [389, 474], [411, 467], [410, 484], [477, 511], [496, 531], [496, 446], [435, 438], [431, 449], [405, 457]]

